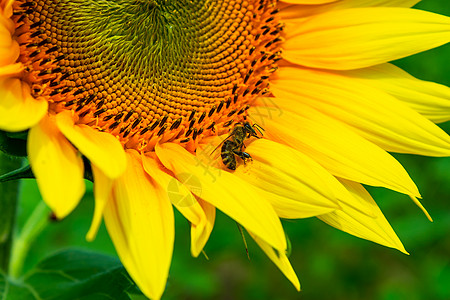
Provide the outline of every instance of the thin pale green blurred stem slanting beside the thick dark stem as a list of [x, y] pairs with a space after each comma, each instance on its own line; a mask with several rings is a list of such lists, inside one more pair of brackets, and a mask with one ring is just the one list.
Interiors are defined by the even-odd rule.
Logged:
[[50, 213], [51, 211], [47, 205], [40, 201], [26, 221], [20, 234], [14, 239], [11, 263], [9, 265], [9, 274], [12, 278], [18, 278], [21, 275], [28, 250], [50, 222]]

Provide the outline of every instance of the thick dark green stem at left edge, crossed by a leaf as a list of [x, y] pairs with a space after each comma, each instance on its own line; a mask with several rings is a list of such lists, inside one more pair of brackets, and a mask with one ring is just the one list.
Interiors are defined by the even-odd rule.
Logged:
[[[22, 159], [0, 152], [0, 175], [22, 166]], [[19, 181], [0, 183], [0, 271], [7, 273], [11, 257], [12, 236], [16, 222]]]

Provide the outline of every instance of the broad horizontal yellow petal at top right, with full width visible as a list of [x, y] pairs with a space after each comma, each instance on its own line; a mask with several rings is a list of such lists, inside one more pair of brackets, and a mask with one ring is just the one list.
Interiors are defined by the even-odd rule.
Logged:
[[[301, 25], [301, 26], [299, 26]], [[286, 24], [283, 58], [350, 70], [399, 59], [450, 41], [450, 18], [414, 9], [351, 8]]]

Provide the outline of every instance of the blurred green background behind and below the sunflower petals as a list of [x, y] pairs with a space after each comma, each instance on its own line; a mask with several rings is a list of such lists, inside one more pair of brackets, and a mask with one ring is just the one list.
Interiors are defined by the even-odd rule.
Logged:
[[[425, 0], [418, 8], [450, 15], [449, 0]], [[418, 78], [450, 86], [450, 45], [396, 62]], [[442, 127], [450, 132], [450, 124]], [[450, 299], [450, 158], [396, 155], [417, 183], [429, 222], [404, 196], [369, 188], [410, 255], [360, 240], [316, 219], [284, 221], [290, 260], [302, 284], [290, 282], [247, 238], [250, 260], [236, 223], [218, 213], [204, 256], [190, 255], [188, 222], [177, 213], [176, 242], [165, 299]], [[19, 224], [40, 201], [34, 180], [22, 182]], [[85, 234], [93, 213], [92, 185], [78, 208], [52, 222], [30, 249], [25, 271], [58, 249], [80, 247], [115, 255], [102, 226]]]

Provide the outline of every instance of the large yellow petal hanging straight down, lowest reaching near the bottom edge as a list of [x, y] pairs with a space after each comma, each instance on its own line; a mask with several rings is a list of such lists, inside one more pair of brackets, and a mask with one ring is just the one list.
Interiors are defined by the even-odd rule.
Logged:
[[160, 299], [169, 275], [174, 216], [167, 192], [143, 169], [136, 151], [127, 151], [127, 168], [105, 207], [105, 223], [130, 276], [151, 299]]

